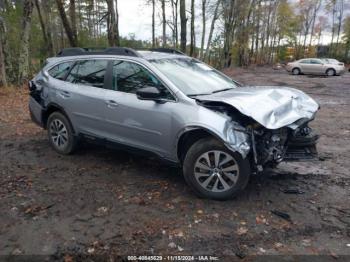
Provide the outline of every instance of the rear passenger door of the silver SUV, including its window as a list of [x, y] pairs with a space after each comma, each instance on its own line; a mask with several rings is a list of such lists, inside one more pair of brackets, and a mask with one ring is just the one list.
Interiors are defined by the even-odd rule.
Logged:
[[63, 79], [55, 79], [55, 102], [64, 108], [76, 131], [104, 137], [104, 89], [108, 60], [76, 61]]

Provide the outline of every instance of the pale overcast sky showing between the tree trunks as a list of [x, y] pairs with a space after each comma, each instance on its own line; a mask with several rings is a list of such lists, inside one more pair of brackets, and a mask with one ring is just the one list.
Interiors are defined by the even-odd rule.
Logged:
[[[296, 0], [291, 0], [295, 2]], [[350, 14], [350, 0], [344, 0], [346, 3], [345, 15]], [[152, 8], [146, 4], [147, 0], [118, 0], [119, 10], [119, 30], [122, 36], [126, 37], [130, 34], [135, 34], [136, 39], [151, 40], [152, 39]], [[197, 1], [200, 2], [200, 1]], [[160, 5], [156, 8], [156, 36], [161, 36], [161, 19], [159, 14], [161, 12]], [[167, 15], [170, 16], [171, 8], [167, 6]], [[200, 15], [201, 10], [198, 6], [196, 8], [197, 15]], [[324, 11], [323, 15], [325, 14]], [[345, 16], [344, 15], [344, 16]], [[197, 45], [201, 38], [201, 25], [198, 17], [196, 22]], [[330, 19], [330, 18], [329, 18]], [[207, 32], [209, 31], [210, 21], [207, 22]], [[326, 32], [328, 31], [328, 32]], [[170, 28], [167, 27], [167, 34], [170, 36]], [[326, 29], [321, 36], [321, 43], [328, 44], [331, 40], [329, 29]]]

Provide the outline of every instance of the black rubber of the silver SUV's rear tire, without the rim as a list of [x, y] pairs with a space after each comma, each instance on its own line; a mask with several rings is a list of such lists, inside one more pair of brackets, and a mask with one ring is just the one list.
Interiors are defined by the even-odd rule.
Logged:
[[[55, 144], [53, 143], [52, 138], [51, 138], [50, 124], [55, 119], [59, 119], [60, 121], [62, 121], [62, 123], [65, 125], [65, 127], [67, 129], [68, 144], [63, 150], [57, 148], [55, 146]], [[76, 145], [76, 138], [75, 138], [75, 135], [74, 135], [74, 131], [73, 131], [72, 125], [70, 124], [68, 118], [64, 114], [62, 114], [60, 112], [52, 113], [49, 116], [48, 120], [47, 120], [47, 127], [46, 128], [47, 128], [47, 135], [48, 135], [48, 138], [49, 138], [50, 145], [57, 153], [60, 153], [60, 154], [63, 154], [63, 155], [69, 155], [69, 154], [71, 154], [74, 151], [75, 145]]]

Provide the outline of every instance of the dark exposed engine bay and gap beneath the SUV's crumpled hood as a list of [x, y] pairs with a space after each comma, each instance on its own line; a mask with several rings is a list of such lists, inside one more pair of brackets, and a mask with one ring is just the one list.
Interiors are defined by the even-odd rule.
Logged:
[[257, 171], [265, 167], [275, 167], [282, 161], [310, 160], [317, 156], [318, 135], [314, 134], [308, 126], [310, 120], [301, 121], [296, 129], [290, 127], [268, 129], [227, 104], [197, 102], [206, 108], [229, 116], [233, 122], [243, 127], [236, 131], [245, 132], [249, 136], [251, 150], [248, 157], [251, 159], [252, 167]]

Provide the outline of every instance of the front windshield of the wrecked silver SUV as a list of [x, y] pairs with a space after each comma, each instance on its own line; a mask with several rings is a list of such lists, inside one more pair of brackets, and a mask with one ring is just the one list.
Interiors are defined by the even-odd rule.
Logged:
[[237, 87], [229, 77], [192, 58], [164, 58], [150, 62], [188, 96], [212, 94]]

